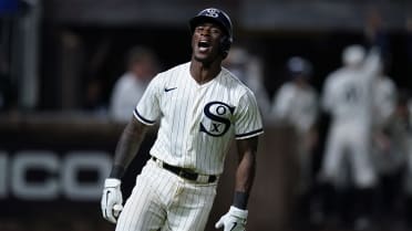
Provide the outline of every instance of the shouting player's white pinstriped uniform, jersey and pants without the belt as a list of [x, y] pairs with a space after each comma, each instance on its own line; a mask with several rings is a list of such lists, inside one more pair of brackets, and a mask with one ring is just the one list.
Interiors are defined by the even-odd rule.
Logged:
[[217, 181], [185, 180], [157, 164], [164, 161], [205, 177], [218, 176], [234, 137], [244, 139], [262, 133], [260, 113], [249, 88], [225, 69], [199, 85], [190, 76], [189, 65], [158, 74], [134, 111], [134, 116], [146, 125], [161, 120], [151, 149], [158, 161], [150, 160], [137, 177], [117, 231], [204, 230]]

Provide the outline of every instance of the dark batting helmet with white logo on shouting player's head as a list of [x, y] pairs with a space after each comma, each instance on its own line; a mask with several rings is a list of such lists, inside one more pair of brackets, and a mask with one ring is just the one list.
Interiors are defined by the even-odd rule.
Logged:
[[205, 10], [202, 10], [199, 13], [197, 13], [196, 17], [190, 19], [190, 32], [194, 33], [195, 28], [199, 23], [205, 21], [213, 21], [224, 30], [226, 35], [220, 41], [220, 50], [226, 57], [234, 40], [230, 18], [223, 10], [216, 8], [207, 8]]

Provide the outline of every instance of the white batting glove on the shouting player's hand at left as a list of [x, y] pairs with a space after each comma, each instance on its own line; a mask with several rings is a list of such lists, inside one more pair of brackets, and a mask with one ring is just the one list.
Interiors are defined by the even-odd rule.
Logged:
[[103, 218], [112, 223], [116, 223], [119, 214], [123, 209], [122, 203], [121, 181], [119, 179], [107, 178], [104, 181], [101, 201]]

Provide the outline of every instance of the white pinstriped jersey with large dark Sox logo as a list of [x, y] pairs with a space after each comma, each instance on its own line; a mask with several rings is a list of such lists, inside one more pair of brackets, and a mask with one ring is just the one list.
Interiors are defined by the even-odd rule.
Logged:
[[254, 93], [226, 69], [199, 85], [190, 63], [159, 73], [134, 116], [146, 125], [161, 120], [151, 155], [198, 174], [219, 175], [231, 139], [264, 133]]

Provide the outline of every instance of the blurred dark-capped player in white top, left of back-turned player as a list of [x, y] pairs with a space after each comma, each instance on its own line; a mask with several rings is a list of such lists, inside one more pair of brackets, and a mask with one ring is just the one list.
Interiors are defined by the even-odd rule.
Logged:
[[290, 77], [280, 86], [272, 99], [271, 118], [292, 126], [296, 134], [297, 166], [299, 170], [297, 183], [296, 213], [301, 218], [310, 217], [312, 176], [312, 153], [318, 143], [317, 117], [319, 96], [310, 84], [311, 63], [300, 56], [292, 56], [287, 62]]

